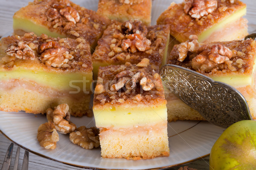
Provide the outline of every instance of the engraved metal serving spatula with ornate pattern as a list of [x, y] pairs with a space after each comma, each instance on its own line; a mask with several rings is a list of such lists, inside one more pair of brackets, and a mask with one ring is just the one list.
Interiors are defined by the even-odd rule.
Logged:
[[229, 127], [252, 119], [244, 96], [226, 83], [177, 65], [164, 65], [160, 75], [165, 88], [214, 125]]

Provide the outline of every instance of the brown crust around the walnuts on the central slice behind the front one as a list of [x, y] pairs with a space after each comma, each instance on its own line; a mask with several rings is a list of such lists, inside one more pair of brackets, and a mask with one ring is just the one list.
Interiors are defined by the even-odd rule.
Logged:
[[[130, 48], [122, 50], [122, 42], [127, 40], [128, 34], [121, 29], [121, 23], [113, 23], [104, 31], [101, 39], [98, 41], [98, 46], [93, 53], [93, 62], [107, 62], [108, 64], [132, 64], [139, 63], [143, 58], [148, 58], [151, 64], [161, 66], [166, 43], [169, 37], [169, 27], [166, 25], [149, 26], [144, 28], [147, 34], [143, 37], [150, 40], [150, 49], [145, 51], [131, 52]], [[141, 26], [143, 27], [143, 25]], [[143, 29], [144, 29], [143, 28]], [[130, 34], [131, 35], [131, 34]], [[113, 47], [119, 47], [120, 51], [116, 51]], [[112, 54], [113, 53], [113, 54]]]

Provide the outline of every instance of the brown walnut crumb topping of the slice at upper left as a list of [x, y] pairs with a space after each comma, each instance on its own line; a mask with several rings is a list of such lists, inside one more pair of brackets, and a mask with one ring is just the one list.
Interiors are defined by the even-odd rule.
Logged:
[[23, 13], [26, 18], [37, 16], [40, 23], [50, 31], [57, 31], [70, 38], [83, 37], [90, 45], [111, 23], [107, 17], [69, 0], [35, 0], [29, 6], [21, 8], [19, 13]]

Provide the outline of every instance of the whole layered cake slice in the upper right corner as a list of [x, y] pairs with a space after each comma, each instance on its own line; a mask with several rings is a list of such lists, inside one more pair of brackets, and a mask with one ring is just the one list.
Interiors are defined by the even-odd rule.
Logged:
[[247, 33], [246, 4], [239, 0], [185, 0], [172, 3], [157, 19], [168, 24], [179, 42], [197, 35], [199, 42], [241, 40]]

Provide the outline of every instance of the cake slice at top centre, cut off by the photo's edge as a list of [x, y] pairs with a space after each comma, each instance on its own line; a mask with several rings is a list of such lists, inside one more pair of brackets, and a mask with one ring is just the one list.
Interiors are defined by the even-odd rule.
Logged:
[[130, 19], [142, 21], [150, 26], [152, 0], [99, 0], [98, 14], [111, 20], [125, 22]]

